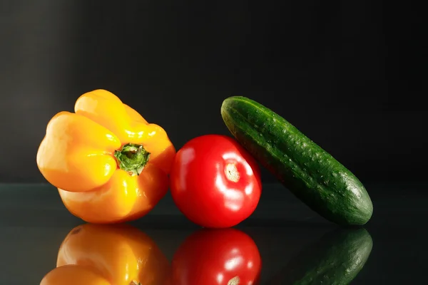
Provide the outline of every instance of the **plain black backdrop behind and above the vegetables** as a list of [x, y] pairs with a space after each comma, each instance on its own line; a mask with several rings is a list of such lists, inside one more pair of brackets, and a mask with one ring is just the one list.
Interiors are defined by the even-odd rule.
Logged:
[[[0, 182], [45, 182], [49, 119], [103, 88], [175, 147], [263, 103], [362, 182], [424, 180], [426, 33], [378, 1], [0, 1]], [[272, 176], [263, 172], [265, 181]]]

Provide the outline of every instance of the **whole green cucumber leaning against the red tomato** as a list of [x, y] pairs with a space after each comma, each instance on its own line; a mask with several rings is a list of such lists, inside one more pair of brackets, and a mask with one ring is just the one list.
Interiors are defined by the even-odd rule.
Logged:
[[242, 96], [223, 101], [230, 133], [288, 190], [325, 219], [366, 224], [373, 204], [345, 166], [269, 108]]

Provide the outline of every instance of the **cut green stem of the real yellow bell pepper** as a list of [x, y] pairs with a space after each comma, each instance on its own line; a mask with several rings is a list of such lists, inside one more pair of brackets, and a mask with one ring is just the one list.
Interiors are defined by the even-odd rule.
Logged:
[[121, 170], [125, 170], [131, 176], [140, 175], [148, 162], [150, 152], [145, 150], [143, 145], [128, 143], [123, 145], [121, 150], [115, 150], [114, 157]]

